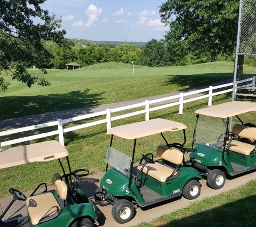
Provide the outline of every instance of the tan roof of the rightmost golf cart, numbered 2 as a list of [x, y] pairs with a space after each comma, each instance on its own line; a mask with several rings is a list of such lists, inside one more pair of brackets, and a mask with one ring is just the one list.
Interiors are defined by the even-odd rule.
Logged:
[[256, 111], [256, 103], [234, 101], [219, 105], [212, 105], [211, 107], [199, 109], [195, 112], [211, 117], [227, 118], [250, 111]]

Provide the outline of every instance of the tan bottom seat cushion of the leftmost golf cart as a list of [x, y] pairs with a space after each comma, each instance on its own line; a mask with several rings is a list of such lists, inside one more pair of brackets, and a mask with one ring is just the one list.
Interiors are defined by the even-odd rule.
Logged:
[[54, 208], [48, 212], [46, 217], [56, 214], [57, 207], [61, 210], [59, 203], [51, 192], [27, 198], [26, 207], [33, 225], [39, 224], [40, 219], [52, 207]]

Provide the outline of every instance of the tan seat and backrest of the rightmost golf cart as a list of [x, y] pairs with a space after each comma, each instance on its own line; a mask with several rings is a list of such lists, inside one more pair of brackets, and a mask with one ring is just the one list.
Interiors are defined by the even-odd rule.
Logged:
[[[250, 140], [256, 140], [256, 128], [247, 128], [244, 125], [234, 125], [232, 132], [236, 133], [241, 138]], [[232, 140], [229, 146], [230, 151], [234, 151], [240, 154], [250, 155], [255, 152], [255, 146], [241, 141]]]

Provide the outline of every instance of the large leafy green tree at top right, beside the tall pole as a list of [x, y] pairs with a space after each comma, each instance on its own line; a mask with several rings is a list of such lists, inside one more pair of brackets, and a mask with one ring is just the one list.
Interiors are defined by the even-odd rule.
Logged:
[[188, 52], [209, 60], [234, 53], [238, 13], [237, 0], [167, 0], [160, 6], [162, 22], [170, 25], [166, 41], [184, 41]]

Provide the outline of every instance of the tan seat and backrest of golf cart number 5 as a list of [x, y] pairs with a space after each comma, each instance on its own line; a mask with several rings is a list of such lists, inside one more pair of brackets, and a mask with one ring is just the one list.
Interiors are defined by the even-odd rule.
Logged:
[[[176, 149], [170, 150], [168, 146], [159, 145], [156, 149], [156, 154], [163, 160], [167, 160], [171, 164], [174, 164], [175, 167], [165, 166], [158, 162], [154, 164], [148, 163], [142, 169], [143, 173], [148, 174], [152, 178], [160, 182], [165, 182], [172, 178], [176, 178], [179, 175], [179, 172], [176, 168], [182, 164], [183, 161], [183, 153]], [[140, 164], [137, 169], [140, 170], [143, 165]]]

